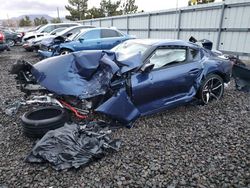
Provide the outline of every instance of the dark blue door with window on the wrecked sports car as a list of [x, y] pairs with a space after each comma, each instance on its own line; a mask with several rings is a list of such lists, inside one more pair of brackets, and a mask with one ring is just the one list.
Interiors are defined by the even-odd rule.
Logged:
[[190, 60], [188, 54], [187, 47], [157, 48], [146, 60], [154, 64], [153, 70], [132, 75], [132, 100], [142, 115], [192, 99], [202, 67], [199, 60]]

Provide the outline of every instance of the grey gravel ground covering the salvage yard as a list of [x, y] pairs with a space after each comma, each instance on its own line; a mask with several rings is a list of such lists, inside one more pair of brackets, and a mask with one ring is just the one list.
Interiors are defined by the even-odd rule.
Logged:
[[78, 170], [57, 172], [24, 158], [34, 140], [4, 101], [22, 96], [8, 70], [16, 59], [37, 62], [15, 47], [0, 54], [0, 187], [250, 187], [250, 94], [225, 90], [222, 101], [187, 105], [119, 129], [122, 148]]

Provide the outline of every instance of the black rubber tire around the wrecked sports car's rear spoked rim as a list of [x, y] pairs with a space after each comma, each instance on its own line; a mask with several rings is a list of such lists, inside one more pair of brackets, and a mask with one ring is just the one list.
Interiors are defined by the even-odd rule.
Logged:
[[202, 81], [201, 86], [200, 86], [200, 89], [199, 89], [199, 91], [198, 91], [198, 93], [197, 93], [197, 97], [200, 99], [201, 104], [207, 104], [207, 103], [204, 101], [204, 99], [203, 99], [202, 93], [203, 93], [203, 90], [204, 90], [205, 85], [206, 85], [207, 82], [208, 82], [209, 80], [211, 80], [212, 78], [218, 79], [218, 80], [222, 83], [222, 92], [221, 92], [220, 97], [219, 97], [218, 99], [221, 99], [221, 97], [222, 97], [223, 94], [224, 94], [224, 81], [223, 81], [223, 79], [222, 79], [219, 75], [217, 75], [217, 74], [209, 74], [209, 75]]

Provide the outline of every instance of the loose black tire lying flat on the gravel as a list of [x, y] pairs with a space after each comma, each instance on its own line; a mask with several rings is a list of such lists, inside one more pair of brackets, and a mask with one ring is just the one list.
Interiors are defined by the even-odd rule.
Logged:
[[42, 107], [26, 112], [21, 117], [23, 133], [30, 138], [41, 138], [50, 130], [62, 127], [69, 119], [65, 109]]

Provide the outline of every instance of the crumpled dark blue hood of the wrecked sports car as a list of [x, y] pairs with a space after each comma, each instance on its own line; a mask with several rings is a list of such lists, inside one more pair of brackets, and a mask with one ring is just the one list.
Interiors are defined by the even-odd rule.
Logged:
[[40, 61], [31, 72], [51, 92], [86, 99], [105, 94], [114, 74], [124, 74], [140, 65], [140, 54], [122, 56], [119, 61], [111, 51], [81, 51]]

